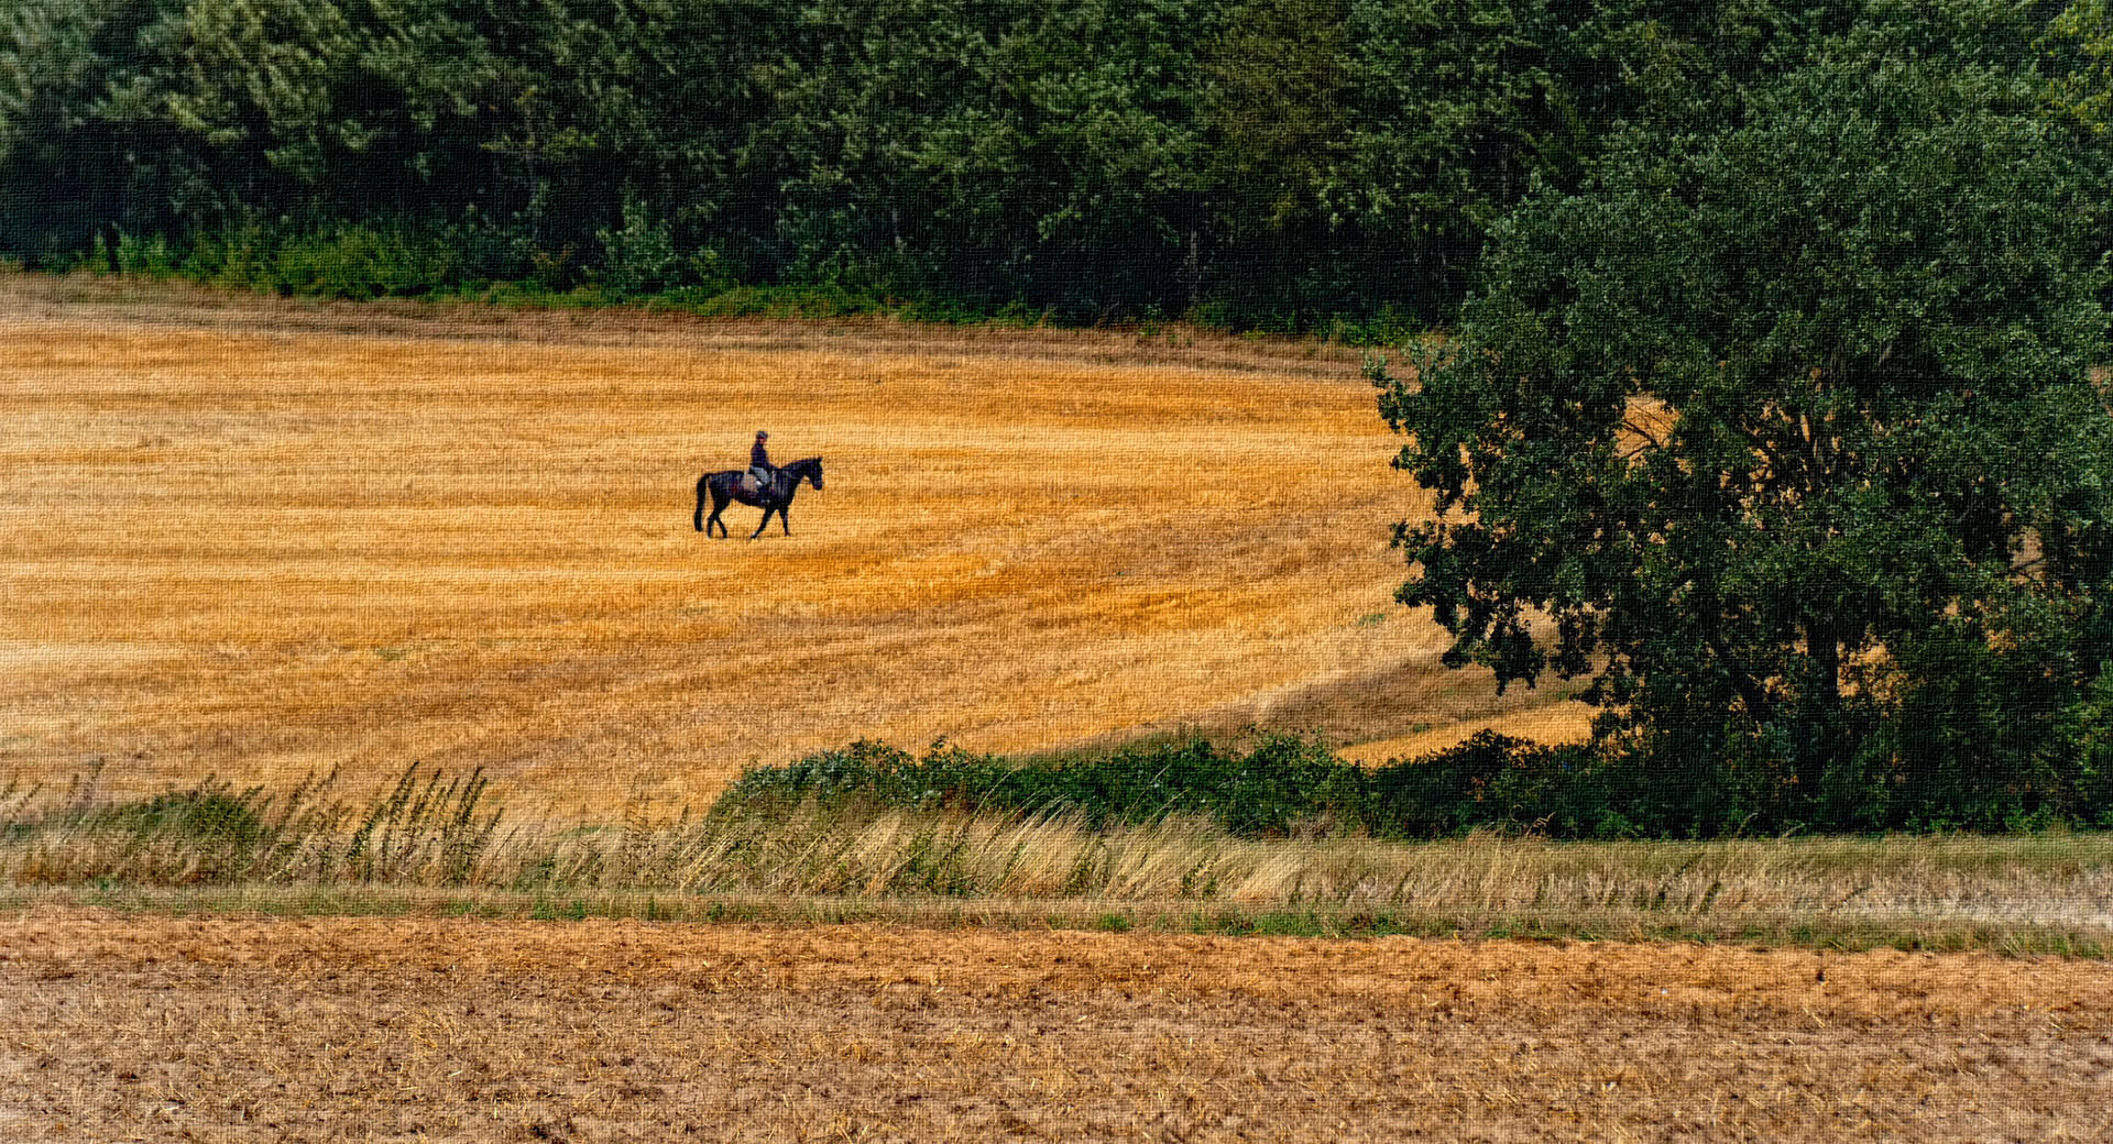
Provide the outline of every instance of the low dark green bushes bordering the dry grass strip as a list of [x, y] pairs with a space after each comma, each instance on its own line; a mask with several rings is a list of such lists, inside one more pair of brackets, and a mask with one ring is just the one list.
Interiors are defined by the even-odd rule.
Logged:
[[[1207, 739], [1118, 747], [1061, 760], [1008, 760], [938, 745], [923, 756], [854, 743], [750, 770], [712, 815], [771, 815], [807, 800], [862, 821], [879, 808], [1069, 815], [1095, 830], [1209, 817], [1240, 836], [1369, 834], [1443, 838], [1473, 830], [1549, 838], [1722, 838], [1785, 832], [2113, 825], [2107, 686], [2062, 739], [2071, 754], [2007, 785], [1889, 783], [1866, 800], [1815, 802], [1752, 749], [1642, 766], [1587, 745], [1549, 747], [1479, 732], [1384, 766], [1346, 762], [1304, 739], [1251, 749]], [[1995, 794], [1990, 794], [1995, 792]], [[945, 893], [945, 855], [921, 884]], [[1082, 872], [1090, 880], [1090, 872]]]

